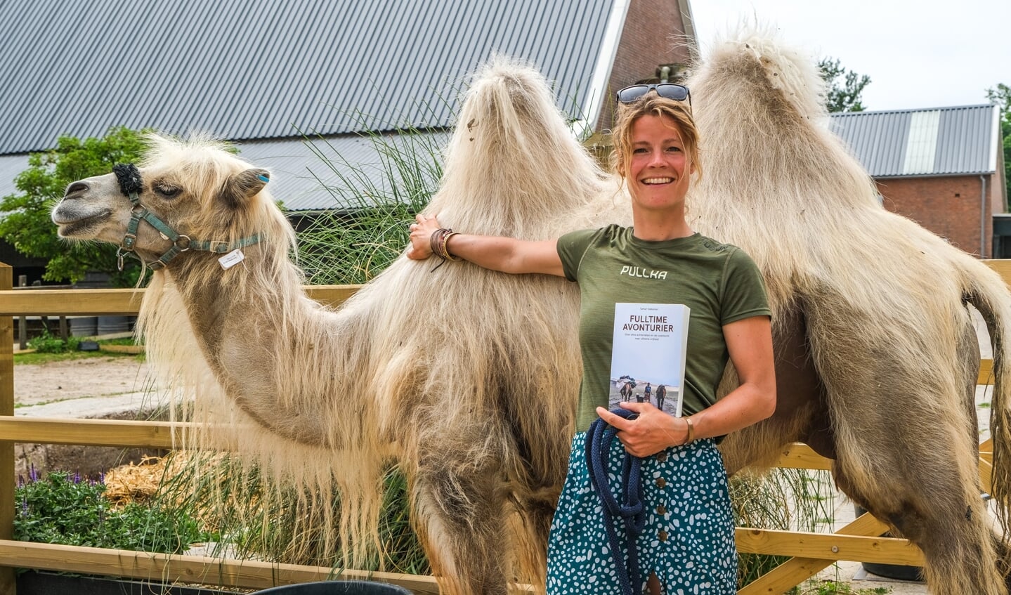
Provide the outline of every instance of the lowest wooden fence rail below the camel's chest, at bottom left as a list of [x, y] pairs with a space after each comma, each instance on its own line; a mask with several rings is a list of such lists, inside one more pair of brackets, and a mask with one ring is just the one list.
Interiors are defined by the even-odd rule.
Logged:
[[240, 589], [266, 589], [277, 585], [335, 578], [358, 579], [392, 583], [415, 593], [433, 595], [439, 593], [435, 578], [430, 576], [356, 570], [335, 571], [315, 566], [223, 560], [203, 556], [148, 554], [7, 539], [0, 540], [0, 565]]

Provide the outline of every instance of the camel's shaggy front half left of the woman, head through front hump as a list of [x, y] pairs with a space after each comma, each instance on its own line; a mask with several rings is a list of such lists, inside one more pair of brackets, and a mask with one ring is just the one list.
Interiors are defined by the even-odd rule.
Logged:
[[[587, 206], [587, 197], [615, 196], [614, 183], [535, 70], [488, 67], [460, 122], [430, 206], [448, 224], [545, 239], [628, 222], [622, 200]], [[292, 229], [266, 171], [206, 139], [150, 140], [145, 207], [194, 240], [262, 236], [226, 271], [219, 255], [181, 253], [155, 273], [142, 306], [165, 382], [196, 394], [208, 411], [198, 417], [237, 428], [216, 442], [258, 454], [282, 480], [319, 494], [336, 482], [340, 533], [356, 546], [350, 564], [375, 541], [381, 472], [395, 461], [444, 592], [543, 584], [579, 385], [574, 285], [401, 258], [331, 311], [301, 290]], [[53, 215], [65, 237], [115, 243], [129, 217], [111, 174], [70, 185]], [[144, 260], [170, 245], [141, 225]]]

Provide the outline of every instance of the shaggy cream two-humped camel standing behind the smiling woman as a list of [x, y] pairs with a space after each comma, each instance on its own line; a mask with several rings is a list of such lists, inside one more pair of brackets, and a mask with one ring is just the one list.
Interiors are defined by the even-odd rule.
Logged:
[[[707, 173], [690, 216], [752, 255], [774, 312], [779, 404], [724, 441], [728, 468], [768, 464], [804, 439], [835, 459], [844, 492], [924, 551], [933, 591], [1004, 594], [1006, 548], [976, 474], [979, 353], [966, 304], [994, 337], [1004, 518], [1011, 298], [984, 265], [877, 203], [823, 125], [818, 81], [809, 61], [756, 35], [716, 47], [691, 82]], [[624, 191], [572, 138], [533, 68], [485, 68], [459, 122], [427, 209], [444, 224], [543, 239], [630, 223]], [[401, 257], [339, 310], [320, 307], [300, 290], [269, 172], [207, 138], [150, 142], [139, 169], [71, 184], [53, 220], [64, 237], [120, 244], [157, 267], [141, 312], [150, 360], [208, 418], [233, 422], [213, 438], [278, 481], [323, 494], [336, 484], [352, 562], [375, 544], [379, 474], [395, 461], [445, 593], [543, 585], [580, 374], [572, 284]], [[124, 241], [131, 194], [172, 232], [137, 219]], [[728, 369], [723, 390], [733, 382]]]

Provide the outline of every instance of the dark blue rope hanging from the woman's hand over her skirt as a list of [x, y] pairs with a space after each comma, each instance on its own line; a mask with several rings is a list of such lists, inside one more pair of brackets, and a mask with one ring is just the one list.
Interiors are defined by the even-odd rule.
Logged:
[[[612, 413], [625, 419], [635, 419], [637, 413], [628, 409], [612, 409]], [[636, 538], [646, 526], [646, 510], [642, 503], [642, 481], [640, 467], [642, 459], [625, 453], [622, 460], [622, 502], [618, 502], [608, 483], [608, 453], [615, 439], [618, 429], [598, 418], [586, 431], [586, 468], [589, 472], [590, 485], [596, 490], [596, 495], [604, 505], [604, 526], [608, 530], [608, 540], [611, 542], [611, 557], [618, 571], [618, 582], [625, 595], [634, 595], [632, 580], [639, 580], [639, 552]], [[615, 517], [620, 517], [625, 525], [625, 541], [628, 549], [628, 561], [622, 560], [618, 548], [618, 531], [615, 528]]]

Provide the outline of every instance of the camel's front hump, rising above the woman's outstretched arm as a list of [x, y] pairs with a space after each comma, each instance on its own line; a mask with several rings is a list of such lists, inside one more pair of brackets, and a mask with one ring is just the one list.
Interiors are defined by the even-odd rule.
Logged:
[[530, 63], [492, 57], [473, 74], [457, 117], [426, 209], [447, 227], [547, 239], [578, 228], [572, 213], [606, 194], [600, 166]]

